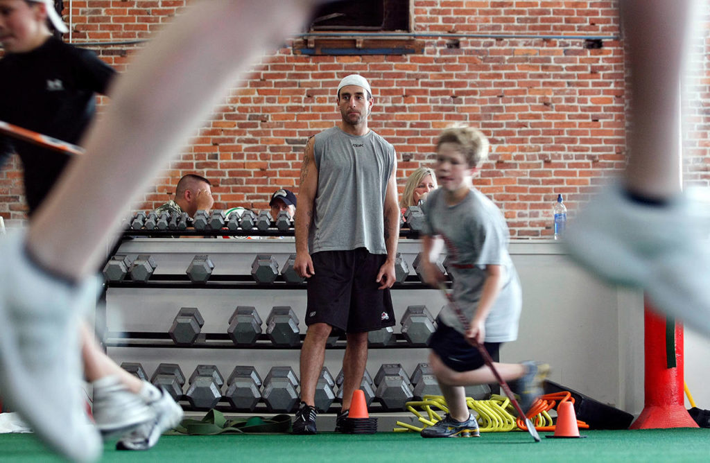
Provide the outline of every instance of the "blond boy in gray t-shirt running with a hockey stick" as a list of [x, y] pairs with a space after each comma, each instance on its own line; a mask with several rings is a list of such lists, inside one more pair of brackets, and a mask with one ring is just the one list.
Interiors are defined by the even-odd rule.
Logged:
[[[451, 305], [439, 314], [429, 361], [449, 413], [422, 430], [422, 437], [479, 436], [476, 418], [466, 406], [464, 386], [495, 383], [496, 377], [476, 344], [483, 344], [495, 356], [503, 342], [518, 337], [522, 297], [508, 254], [508, 227], [500, 209], [471, 184], [487, 156], [488, 139], [476, 129], [449, 128], [439, 136], [435, 162], [439, 189], [430, 192], [423, 207], [424, 275], [434, 287], [443, 280], [431, 261], [436, 237], [441, 236], [451, 258], [453, 298], [469, 322], [466, 329]], [[495, 366], [504, 381], [515, 381], [520, 406], [529, 410], [542, 394], [549, 366], [533, 361]]]

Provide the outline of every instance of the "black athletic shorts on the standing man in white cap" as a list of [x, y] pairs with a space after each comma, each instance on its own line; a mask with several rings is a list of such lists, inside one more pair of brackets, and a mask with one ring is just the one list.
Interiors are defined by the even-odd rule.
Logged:
[[390, 290], [376, 282], [385, 254], [365, 248], [312, 254], [315, 275], [307, 279], [306, 325], [327, 323], [344, 332], [395, 325]]

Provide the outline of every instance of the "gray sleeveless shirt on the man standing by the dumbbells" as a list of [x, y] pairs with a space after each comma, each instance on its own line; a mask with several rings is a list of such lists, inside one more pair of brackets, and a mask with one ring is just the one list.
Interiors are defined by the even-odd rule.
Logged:
[[313, 155], [318, 190], [310, 253], [364, 247], [387, 254], [384, 204], [395, 148], [373, 131], [354, 136], [332, 127], [315, 136]]

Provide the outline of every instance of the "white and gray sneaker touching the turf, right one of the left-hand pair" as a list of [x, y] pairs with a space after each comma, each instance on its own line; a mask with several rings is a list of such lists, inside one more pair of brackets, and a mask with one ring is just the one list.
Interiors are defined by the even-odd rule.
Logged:
[[160, 398], [148, 403], [148, 407], [155, 418], [119, 440], [116, 450], [148, 450], [158, 443], [163, 432], [173, 429], [182, 420], [182, 408], [163, 388], [160, 388]]

